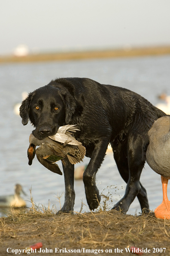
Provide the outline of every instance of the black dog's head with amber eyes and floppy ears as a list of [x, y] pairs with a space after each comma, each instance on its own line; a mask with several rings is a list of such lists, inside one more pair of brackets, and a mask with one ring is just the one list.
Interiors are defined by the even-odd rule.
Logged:
[[57, 133], [62, 125], [69, 124], [76, 112], [76, 100], [60, 84], [48, 84], [33, 91], [20, 107], [22, 124], [28, 120], [36, 128], [33, 135], [42, 140]]

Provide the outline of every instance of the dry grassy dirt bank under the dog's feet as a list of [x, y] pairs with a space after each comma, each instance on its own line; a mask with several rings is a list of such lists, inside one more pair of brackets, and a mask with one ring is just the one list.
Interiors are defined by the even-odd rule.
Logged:
[[126, 252], [125, 248], [133, 246], [143, 249], [145, 256], [168, 256], [170, 220], [156, 219], [152, 212], [141, 216], [115, 210], [56, 215], [35, 207], [0, 218], [0, 256], [26, 255], [19, 250], [38, 242], [43, 247], [33, 256], [137, 255]]

